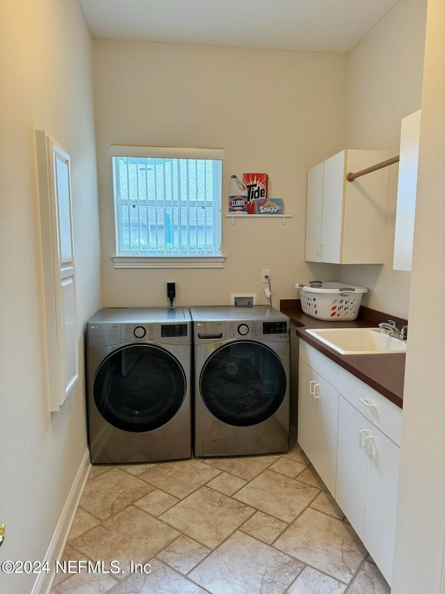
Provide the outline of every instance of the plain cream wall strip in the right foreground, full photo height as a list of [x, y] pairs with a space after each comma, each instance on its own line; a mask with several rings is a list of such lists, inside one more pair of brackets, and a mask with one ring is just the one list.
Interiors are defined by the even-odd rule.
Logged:
[[444, 23], [429, 0], [393, 594], [445, 591]]

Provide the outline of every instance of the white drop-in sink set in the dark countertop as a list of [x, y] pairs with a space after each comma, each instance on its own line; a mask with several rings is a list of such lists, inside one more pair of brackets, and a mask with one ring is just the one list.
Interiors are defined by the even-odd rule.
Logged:
[[305, 331], [341, 354], [406, 352], [407, 341], [389, 336], [380, 328], [326, 328]]

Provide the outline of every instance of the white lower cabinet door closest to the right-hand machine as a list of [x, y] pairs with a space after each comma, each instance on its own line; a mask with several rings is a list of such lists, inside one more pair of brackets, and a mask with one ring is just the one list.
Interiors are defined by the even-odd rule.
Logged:
[[300, 359], [298, 366], [298, 443], [314, 464], [316, 398], [311, 387], [316, 383], [315, 371]]

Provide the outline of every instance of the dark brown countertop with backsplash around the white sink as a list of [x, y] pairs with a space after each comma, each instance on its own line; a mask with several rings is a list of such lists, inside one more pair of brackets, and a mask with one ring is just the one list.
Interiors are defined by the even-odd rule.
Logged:
[[380, 322], [387, 322], [389, 318], [396, 322], [398, 328], [407, 324], [407, 320], [397, 318], [394, 315], [375, 311], [367, 307], [360, 307], [357, 320], [353, 322], [325, 322], [312, 318], [302, 312], [300, 299], [282, 299], [280, 311], [291, 318], [296, 324], [296, 334], [303, 341], [312, 345], [316, 350], [322, 352], [326, 357], [358, 377], [359, 380], [377, 390], [383, 396], [394, 402], [398, 407], [403, 408], [403, 382], [405, 380], [405, 354], [348, 354], [343, 355], [331, 349], [327, 345], [317, 341], [316, 338], [307, 334], [307, 328], [367, 328], [375, 327]]

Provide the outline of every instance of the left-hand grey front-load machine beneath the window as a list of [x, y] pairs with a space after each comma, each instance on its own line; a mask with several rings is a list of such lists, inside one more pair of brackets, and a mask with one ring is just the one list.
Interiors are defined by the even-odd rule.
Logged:
[[91, 462], [191, 458], [188, 308], [104, 308], [87, 322]]

